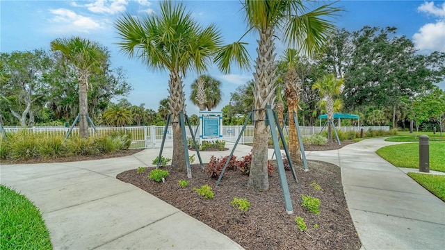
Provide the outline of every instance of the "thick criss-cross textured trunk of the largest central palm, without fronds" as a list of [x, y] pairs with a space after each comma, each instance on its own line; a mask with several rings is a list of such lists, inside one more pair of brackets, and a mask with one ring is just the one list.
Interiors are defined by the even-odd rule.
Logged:
[[254, 141], [252, 148], [252, 165], [250, 167], [248, 187], [253, 190], [266, 191], [269, 189], [267, 172], [268, 138], [270, 129], [266, 126], [267, 105], [273, 105], [275, 96], [274, 83], [276, 66], [274, 64], [273, 29], [261, 31], [257, 40], [257, 61], [254, 76]]

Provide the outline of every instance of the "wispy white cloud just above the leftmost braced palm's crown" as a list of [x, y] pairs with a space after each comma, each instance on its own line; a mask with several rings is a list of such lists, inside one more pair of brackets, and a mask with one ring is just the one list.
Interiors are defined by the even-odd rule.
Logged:
[[51, 28], [51, 31], [57, 33], [70, 33], [72, 31], [88, 33], [88, 31], [101, 28], [101, 25], [95, 20], [90, 17], [84, 17], [83, 15], [77, 15], [72, 10], [58, 8], [56, 10], [49, 10], [49, 12], [55, 15], [51, 21], [57, 24]]

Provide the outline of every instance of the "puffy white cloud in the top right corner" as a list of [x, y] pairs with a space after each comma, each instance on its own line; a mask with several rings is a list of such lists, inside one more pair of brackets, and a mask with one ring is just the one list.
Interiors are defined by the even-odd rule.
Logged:
[[412, 36], [416, 49], [445, 52], [445, 3], [440, 7], [435, 6], [433, 1], [425, 2], [417, 10], [439, 19], [435, 23], [423, 25], [419, 32]]

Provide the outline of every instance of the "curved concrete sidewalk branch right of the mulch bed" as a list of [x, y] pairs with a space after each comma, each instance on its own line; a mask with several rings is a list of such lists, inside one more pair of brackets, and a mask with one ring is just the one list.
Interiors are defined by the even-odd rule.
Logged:
[[307, 158], [341, 167], [362, 249], [444, 249], [445, 203], [375, 153], [391, 144], [397, 143], [366, 139], [339, 150], [307, 152]]

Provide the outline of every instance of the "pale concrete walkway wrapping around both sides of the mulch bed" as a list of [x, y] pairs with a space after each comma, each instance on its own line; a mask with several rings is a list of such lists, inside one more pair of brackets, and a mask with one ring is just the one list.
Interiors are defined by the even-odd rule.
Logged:
[[[307, 152], [307, 158], [341, 167], [362, 249], [442, 249], [445, 203], [375, 154], [389, 144], [394, 143], [368, 139], [339, 150]], [[234, 155], [245, 156], [250, 149], [238, 145]], [[242, 249], [177, 208], [115, 178], [128, 169], [152, 166], [158, 153], [159, 149], [146, 149], [104, 160], [1, 165], [0, 183], [22, 192], [40, 208], [54, 249]], [[218, 156], [203, 152], [203, 162], [212, 154]], [[163, 156], [171, 155], [172, 149], [164, 150]]]

